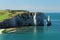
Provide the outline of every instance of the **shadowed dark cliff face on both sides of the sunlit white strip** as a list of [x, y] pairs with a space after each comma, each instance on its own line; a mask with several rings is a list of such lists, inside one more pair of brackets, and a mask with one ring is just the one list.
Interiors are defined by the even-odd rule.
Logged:
[[[0, 28], [21, 27], [21, 26], [34, 26], [33, 20], [34, 13], [18, 14], [11, 19], [6, 19], [0, 22]], [[37, 26], [44, 25], [45, 15], [44, 13], [36, 13]]]

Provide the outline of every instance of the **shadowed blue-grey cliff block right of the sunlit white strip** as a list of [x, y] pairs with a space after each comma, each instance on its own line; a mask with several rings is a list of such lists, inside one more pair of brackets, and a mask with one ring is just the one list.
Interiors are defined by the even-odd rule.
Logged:
[[44, 19], [46, 19], [46, 16], [44, 13], [40, 13], [40, 12], [36, 13], [37, 26], [44, 26]]

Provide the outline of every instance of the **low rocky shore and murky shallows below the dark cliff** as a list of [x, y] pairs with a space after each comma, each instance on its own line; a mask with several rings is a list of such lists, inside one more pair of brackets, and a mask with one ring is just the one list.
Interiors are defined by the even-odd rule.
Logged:
[[29, 27], [17, 27], [17, 28], [7, 28], [7, 29], [0, 29], [0, 34], [4, 34], [4, 33], [12, 33], [12, 32], [28, 32], [31, 31], [31, 29], [33, 29], [34, 26], [29, 26]]

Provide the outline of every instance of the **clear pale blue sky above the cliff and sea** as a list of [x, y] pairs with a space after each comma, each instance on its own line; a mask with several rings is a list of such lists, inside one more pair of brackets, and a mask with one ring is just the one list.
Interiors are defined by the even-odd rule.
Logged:
[[0, 0], [0, 9], [60, 12], [60, 0]]

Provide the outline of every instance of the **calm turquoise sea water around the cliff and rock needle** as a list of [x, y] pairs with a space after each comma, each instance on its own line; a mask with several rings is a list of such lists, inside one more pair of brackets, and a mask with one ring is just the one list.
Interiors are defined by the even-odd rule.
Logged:
[[0, 40], [60, 40], [60, 14], [46, 13], [46, 16], [51, 16], [51, 26], [36, 26], [37, 32], [34, 32], [34, 27], [22, 33], [0, 34]]

